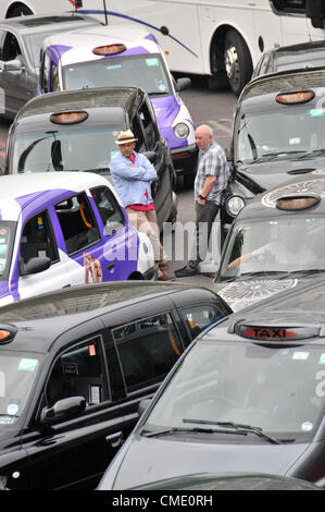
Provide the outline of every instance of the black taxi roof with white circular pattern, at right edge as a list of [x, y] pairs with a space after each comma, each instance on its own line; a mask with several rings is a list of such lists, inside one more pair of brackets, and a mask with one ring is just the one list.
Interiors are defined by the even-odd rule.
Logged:
[[[282, 197], [315, 196], [321, 200], [311, 208], [287, 211], [276, 207], [276, 200]], [[283, 217], [299, 214], [325, 215], [325, 169], [312, 171], [307, 175], [299, 175], [280, 185], [259, 194], [250, 200], [238, 214], [236, 220], [263, 219], [268, 217]]]

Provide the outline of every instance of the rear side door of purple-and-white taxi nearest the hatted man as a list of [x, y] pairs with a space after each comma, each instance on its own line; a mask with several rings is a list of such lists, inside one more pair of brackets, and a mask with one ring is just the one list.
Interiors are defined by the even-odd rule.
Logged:
[[99, 214], [95, 199], [82, 192], [54, 205], [72, 285], [127, 279], [137, 268], [137, 259], [128, 260], [135, 241], [128, 240], [122, 210], [116, 202], [112, 210], [107, 203], [101, 200]]

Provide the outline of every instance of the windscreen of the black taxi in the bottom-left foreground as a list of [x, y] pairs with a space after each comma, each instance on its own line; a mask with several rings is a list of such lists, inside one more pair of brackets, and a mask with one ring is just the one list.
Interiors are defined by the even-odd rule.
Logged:
[[22, 415], [39, 368], [38, 354], [1, 349], [0, 430], [15, 424]]

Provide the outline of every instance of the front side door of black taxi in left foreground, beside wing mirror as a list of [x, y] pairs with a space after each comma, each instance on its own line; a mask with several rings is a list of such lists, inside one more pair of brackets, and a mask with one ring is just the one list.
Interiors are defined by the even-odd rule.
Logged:
[[32, 422], [33, 434], [23, 435], [33, 489], [95, 489], [117, 451], [110, 436], [121, 431], [124, 418], [108, 389], [102, 331], [102, 321], [93, 318], [60, 339], [68, 346], [53, 355], [41, 411], [74, 397], [84, 398], [86, 406], [54, 420], [41, 413]]

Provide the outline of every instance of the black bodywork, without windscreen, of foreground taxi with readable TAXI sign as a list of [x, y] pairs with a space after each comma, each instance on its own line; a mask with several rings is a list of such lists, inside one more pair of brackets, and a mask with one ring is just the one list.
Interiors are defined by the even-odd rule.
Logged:
[[[258, 437], [211, 432], [187, 435], [173, 432], [165, 436], [146, 437], [142, 435], [146, 422], [161, 395], [171, 385], [174, 375], [186, 361], [187, 354], [200, 343], [217, 343], [242, 340], [234, 332], [237, 322], [252, 325], [286, 325], [288, 321], [300, 325], [325, 324], [325, 280], [317, 283], [300, 284], [296, 290], [285, 292], [280, 297], [272, 297], [224, 318], [215, 327], [203, 331], [182, 355], [173, 367], [150, 405], [139, 419], [136, 428], [117, 452], [104, 473], [99, 490], [123, 490], [149, 486], [167, 478], [177, 478], [189, 473], [268, 473], [277, 476], [301, 478], [324, 488], [325, 461], [325, 416], [321, 418], [315, 435], [311, 439], [288, 439], [283, 443], [257, 441]], [[293, 324], [295, 325], [295, 324]], [[245, 340], [247, 341], [247, 340]], [[261, 343], [251, 340], [252, 346]], [[263, 344], [266, 344], [264, 341]], [[288, 342], [268, 341], [278, 346]], [[324, 338], [291, 342], [293, 346], [315, 344], [324, 346]], [[303, 349], [302, 349], [303, 350]], [[290, 376], [288, 375], [288, 379]], [[184, 382], [186, 385], [186, 382]], [[171, 407], [173, 404], [171, 404]], [[211, 426], [211, 424], [210, 424]], [[193, 437], [195, 436], [195, 437]], [[233, 438], [233, 439], [232, 439]], [[170, 463], [173, 456], [173, 463]]]

